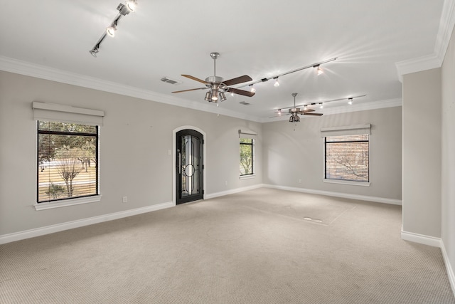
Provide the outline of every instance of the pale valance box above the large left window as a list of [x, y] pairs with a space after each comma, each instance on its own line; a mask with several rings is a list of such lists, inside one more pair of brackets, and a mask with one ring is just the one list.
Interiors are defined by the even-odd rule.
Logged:
[[33, 119], [55, 122], [77, 123], [82, 125], [102, 125], [105, 112], [76, 108], [71, 105], [42, 103], [33, 101]]

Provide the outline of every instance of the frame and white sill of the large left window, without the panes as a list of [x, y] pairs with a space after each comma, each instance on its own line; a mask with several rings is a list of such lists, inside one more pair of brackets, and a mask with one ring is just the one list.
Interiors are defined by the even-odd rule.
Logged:
[[[77, 204], [87, 204], [96, 201], [101, 201], [102, 195], [100, 194], [100, 125], [92, 125], [84, 122], [66, 122], [74, 123], [77, 125], [92, 125], [96, 129], [96, 133], [85, 133], [85, 132], [65, 132], [65, 131], [50, 131], [50, 130], [39, 130], [39, 123], [43, 121], [58, 122], [58, 120], [36, 120], [35, 132], [36, 132], [36, 201], [33, 205], [37, 211], [45, 209], [53, 209], [63, 206], [73, 206]], [[42, 134], [50, 135], [69, 135], [69, 136], [90, 136], [95, 137], [95, 157], [96, 157], [96, 169], [95, 169], [95, 194], [88, 194], [85, 196], [65, 197], [60, 199], [50, 199], [49, 201], [38, 201], [39, 198], [39, 136]]]

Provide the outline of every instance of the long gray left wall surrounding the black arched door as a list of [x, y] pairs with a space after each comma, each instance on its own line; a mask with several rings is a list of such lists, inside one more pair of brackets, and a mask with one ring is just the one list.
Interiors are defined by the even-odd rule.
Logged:
[[[102, 200], [36, 211], [36, 122], [32, 101], [105, 111], [100, 129]], [[0, 236], [172, 201], [173, 130], [207, 138], [206, 194], [262, 184], [262, 125], [74, 85], [0, 72]], [[255, 179], [239, 179], [239, 129], [256, 131]], [[228, 182], [228, 185], [225, 182]], [[128, 203], [122, 203], [128, 196]]]

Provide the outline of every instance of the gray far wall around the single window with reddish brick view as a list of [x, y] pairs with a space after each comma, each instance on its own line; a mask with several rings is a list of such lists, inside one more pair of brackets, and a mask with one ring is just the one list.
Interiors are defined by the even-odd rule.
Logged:
[[[321, 127], [370, 123], [370, 186], [323, 182]], [[295, 128], [295, 130], [294, 130]], [[264, 183], [326, 192], [402, 198], [402, 108], [282, 120], [263, 127]], [[301, 183], [299, 183], [301, 179]]]

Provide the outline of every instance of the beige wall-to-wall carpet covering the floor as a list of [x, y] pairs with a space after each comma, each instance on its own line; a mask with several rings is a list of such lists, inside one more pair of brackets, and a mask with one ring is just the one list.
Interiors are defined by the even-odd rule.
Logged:
[[256, 189], [0, 246], [0, 303], [455, 303], [401, 208]]

